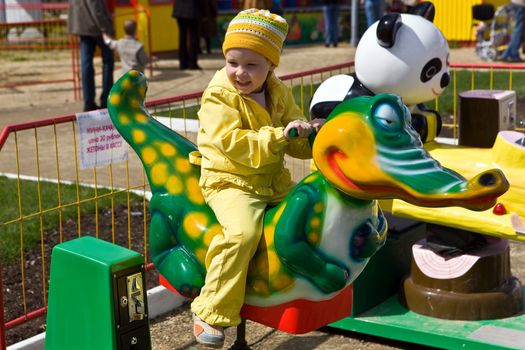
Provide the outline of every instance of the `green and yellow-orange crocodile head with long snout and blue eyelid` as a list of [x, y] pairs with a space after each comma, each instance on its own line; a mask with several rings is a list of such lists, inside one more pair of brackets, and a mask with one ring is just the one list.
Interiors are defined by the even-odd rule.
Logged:
[[340, 191], [361, 199], [402, 199], [425, 207], [486, 210], [509, 188], [498, 169], [470, 180], [430, 156], [398, 96], [342, 102], [313, 145], [319, 171]]

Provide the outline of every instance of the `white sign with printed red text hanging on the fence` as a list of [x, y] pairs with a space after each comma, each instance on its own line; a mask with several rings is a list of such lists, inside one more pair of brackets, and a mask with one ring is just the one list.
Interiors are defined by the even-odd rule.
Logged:
[[80, 168], [128, 159], [128, 145], [109, 118], [108, 110], [77, 113]]

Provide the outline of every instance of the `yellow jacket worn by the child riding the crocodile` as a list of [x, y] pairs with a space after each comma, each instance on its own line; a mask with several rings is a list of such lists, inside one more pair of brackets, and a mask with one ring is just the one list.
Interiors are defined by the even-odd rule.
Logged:
[[284, 154], [308, 159], [311, 149], [307, 139], [287, 141], [283, 131], [289, 122], [305, 118], [291, 89], [273, 72], [266, 80], [266, 96], [267, 110], [240, 94], [225, 68], [215, 74], [198, 112], [201, 186], [228, 182], [264, 196], [289, 189], [292, 181]]

